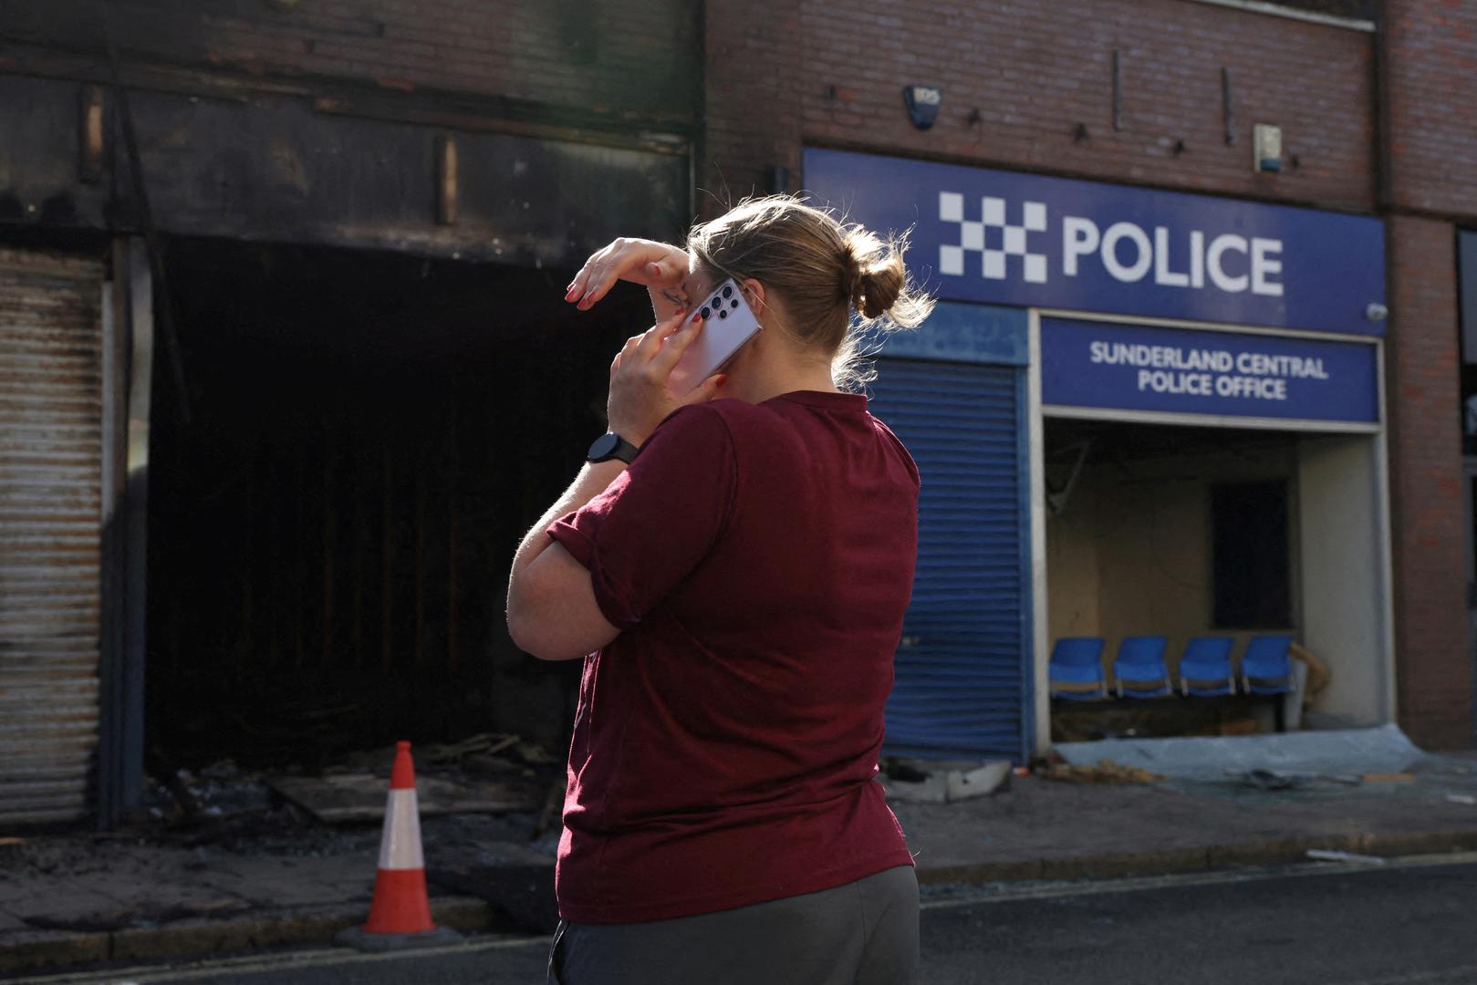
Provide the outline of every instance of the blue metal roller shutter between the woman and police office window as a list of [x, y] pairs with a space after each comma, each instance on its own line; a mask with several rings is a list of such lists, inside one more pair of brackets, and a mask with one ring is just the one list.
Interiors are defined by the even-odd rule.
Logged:
[[877, 360], [871, 412], [923, 477], [888, 752], [1024, 761], [1031, 713], [1025, 371]]

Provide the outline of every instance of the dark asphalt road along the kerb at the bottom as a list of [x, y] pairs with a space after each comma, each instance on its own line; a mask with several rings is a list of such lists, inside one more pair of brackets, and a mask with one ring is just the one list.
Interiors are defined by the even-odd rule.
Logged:
[[[1477, 982], [1477, 858], [962, 890], [923, 913], [926, 985], [1445, 985]], [[524, 985], [542, 941], [394, 957], [335, 951], [27, 979], [47, 985]], [[675, 985], [675, 984], [662, 984]]]

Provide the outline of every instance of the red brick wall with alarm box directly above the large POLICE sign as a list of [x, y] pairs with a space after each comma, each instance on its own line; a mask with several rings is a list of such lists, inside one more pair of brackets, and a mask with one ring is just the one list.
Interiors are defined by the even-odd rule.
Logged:
[[[808, 142], [1374, 207], [1369, 34], [1185, 0], [801, 0], [801, 21]], [[1223, 136], [1221, 66], [1232, 72], [1233, 146]], [[905, 84], [942, 87], [932, 130], [907, 121]], [[1090, 134], [1083, 142], [1078, 123]], [[1255, 174], [1254, 123], [1281, 126], [1300, 167]]]

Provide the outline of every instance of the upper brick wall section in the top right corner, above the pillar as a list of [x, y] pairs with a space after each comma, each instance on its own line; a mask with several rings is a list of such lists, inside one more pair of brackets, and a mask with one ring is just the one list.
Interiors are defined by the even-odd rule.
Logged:
[[1477, 217], [1477, 3], [1385, 6], [1393, 204]]

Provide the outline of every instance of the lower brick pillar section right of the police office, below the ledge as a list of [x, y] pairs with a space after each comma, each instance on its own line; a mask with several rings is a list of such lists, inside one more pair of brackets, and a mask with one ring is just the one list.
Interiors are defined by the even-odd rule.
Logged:
[[1436, 749], [1471, 744], [1467, 533], [1450, 223], [1394, 216], [1390, 244], [1390, 481], [1400, 725]]

